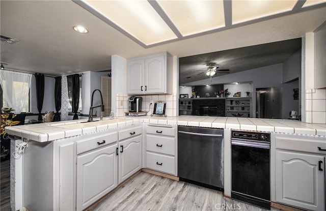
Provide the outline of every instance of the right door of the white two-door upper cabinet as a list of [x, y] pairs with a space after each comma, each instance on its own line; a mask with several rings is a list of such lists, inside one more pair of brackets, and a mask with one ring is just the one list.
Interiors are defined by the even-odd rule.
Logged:
[[165, 57], [165, 55], [159, 55], [145, 59], [145, 93], [165, 93]]

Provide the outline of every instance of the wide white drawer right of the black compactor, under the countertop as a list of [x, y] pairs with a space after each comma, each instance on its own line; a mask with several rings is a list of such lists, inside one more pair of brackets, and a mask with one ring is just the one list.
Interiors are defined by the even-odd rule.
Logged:
[[324, 137], [312, 136], [305, 139], [301, 135], [277, 136], [275, 138], [277, 149], [295, 150], [306, 153], [326, 155], [326, 141]]

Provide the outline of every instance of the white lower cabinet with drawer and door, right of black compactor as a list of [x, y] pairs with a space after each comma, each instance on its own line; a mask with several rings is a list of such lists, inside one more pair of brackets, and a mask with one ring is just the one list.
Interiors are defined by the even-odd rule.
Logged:
[[271, 178], [277, 203], [305, 210], [325, 210], [326, 152], [318, 149], [326, 149], [324, 138], [279, 134], [272, 140], [276, 150], [275, 165], [271, 163], [271, 172], [275, 174]]

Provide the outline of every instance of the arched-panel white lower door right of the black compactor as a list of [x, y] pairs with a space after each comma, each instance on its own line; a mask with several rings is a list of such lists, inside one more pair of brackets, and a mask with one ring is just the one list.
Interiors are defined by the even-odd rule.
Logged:
[[324, 210], [324, 162], [323, 156], [277, 151], [276, 201]]

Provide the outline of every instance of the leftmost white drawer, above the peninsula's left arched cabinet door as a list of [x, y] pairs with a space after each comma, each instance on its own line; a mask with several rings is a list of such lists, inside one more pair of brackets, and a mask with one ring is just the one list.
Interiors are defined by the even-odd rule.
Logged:
[[89, 136], [89, 138], [82, 139], [80, 141], [76, 141], [77, 145], [77, 155], [85, 153], [89, 150], [99, 148], [111, 143], [118, 141], [118, 133], [107, 133], [103, 135], [94, 135], [93, 137]]

